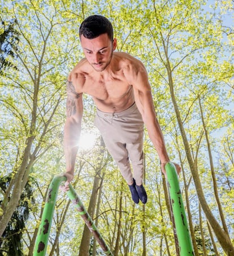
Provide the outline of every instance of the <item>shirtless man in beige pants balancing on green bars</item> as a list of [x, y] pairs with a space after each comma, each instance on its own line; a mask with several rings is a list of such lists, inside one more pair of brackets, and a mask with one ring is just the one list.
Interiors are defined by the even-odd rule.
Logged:
[[[83, 93], [93, 97], [97, 106], [95, 125], [107, 150], [127, 181], [135, 203], [146, 203], [142, 185], [144, 124], [158, 152], [162, 172], [170, 161], [151, 95], [148, 74], [138, 59], [114, 52], [116, 39], [112, 25], [100, 15], [89, 16], [81, 23], [80, 42], [85, 58], [71, 71], [67, 82], [67, 119], [64, 127], [64, 153], [67, 181], [73, 179], [83, 116]], [[133, 174], [129, 159], [132, 163]], [[176, 165], [179, 173], [180, 167]]]

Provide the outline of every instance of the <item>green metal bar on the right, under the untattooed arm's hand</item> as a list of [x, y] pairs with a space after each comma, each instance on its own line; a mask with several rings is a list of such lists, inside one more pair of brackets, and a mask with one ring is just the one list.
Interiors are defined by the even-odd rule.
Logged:
[[167, 163], [165, 169], [170, 192], [171, 206], [175, 220], [177, 239], [179, 241], [180, 255], [194, 255], [175, 165], [171, 162]]

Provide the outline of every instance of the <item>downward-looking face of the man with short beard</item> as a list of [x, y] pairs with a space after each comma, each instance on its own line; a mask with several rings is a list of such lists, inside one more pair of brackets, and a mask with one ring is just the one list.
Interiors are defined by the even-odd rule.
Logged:
[[81, 35], [80, 41], [90, 65], [98, 72], [105, 70], [110, 64], [112, 54], [116, 48], [116, 39], [111, 42], [107, 33], [105, 33], [94, 39], [86, 39]]

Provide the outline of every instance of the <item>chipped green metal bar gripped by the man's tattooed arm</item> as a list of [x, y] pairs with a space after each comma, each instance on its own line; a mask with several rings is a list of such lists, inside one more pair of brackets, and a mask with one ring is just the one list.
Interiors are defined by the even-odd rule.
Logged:
[[[66, 181], [65, 176], [55, 176], [50, 183], [49, 190], [46, 196], [45, 207], [41, 217], [41, 223], [37, 233], [37, 239], [33, 250], [33, 256], [44, 256], [46, 255], [46, 249], [48, 245], [48, 240], [50, 236], [50, 228], [53, 221], [54, 208], [58, 195], [59, 185]], [[69, 190], [67, 191], [68, 197], [71, 199], [72, 203], [75, 204], [76, 209], [79, 211], [80, 216], [85, 221], [85, 224], [89, 228], [90, 232], [96, 238], [98, 244], [101, 246], [102, 250], [107, 255], [113, 255], [108, 245], [106, 245], [103, 237], [99, 233], [96, 225], [89, 216], [88, 212], [85, 210], [81, 200], [76, 194], [75, 190], [69, 185]]]

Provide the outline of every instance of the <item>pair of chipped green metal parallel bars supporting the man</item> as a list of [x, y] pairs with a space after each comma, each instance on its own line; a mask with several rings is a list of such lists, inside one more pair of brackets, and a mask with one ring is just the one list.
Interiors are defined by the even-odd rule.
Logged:
[[[193, 246], [190, 239], [187, 217], [185, 215], [183, 199], [181, 196], [179, 180], [176, 172], [175, 165], [173, 163], [166, 164], [167, 181], [170, 192], [170, 200], [172, 206], [172, 215], [174, 216], [175, 228], [177, 233], [177, 240], [179, 241], [179, 251], [181, 256], [194, 255]], [[33, 256], [44, 256], [46, 255], [46, 249], [48, 245], [51, 224], [54, 215], [55, 203], [58, 195], [59, 185], [66, 181], [64, 176], [56, 176], [51, 181], [49, 190], [46, 197], [46, 202], [41, 218], [41, 223], [38, 229], [37, 239], [34, 246]], [[92, 232], [94, 238], [96, 238], [98, 244], [107, 255], [113, 255], [103, 237], [99, 233], [96, 225], [86, 211], [83, 203], [79, 199], [76, 191], [73, 189], [71, 184], [67, 191], [68, 197], [72, 203], [75, 204], [75, 208], [79, 211], [80, 216], [84, 220], [85, 224]]]

